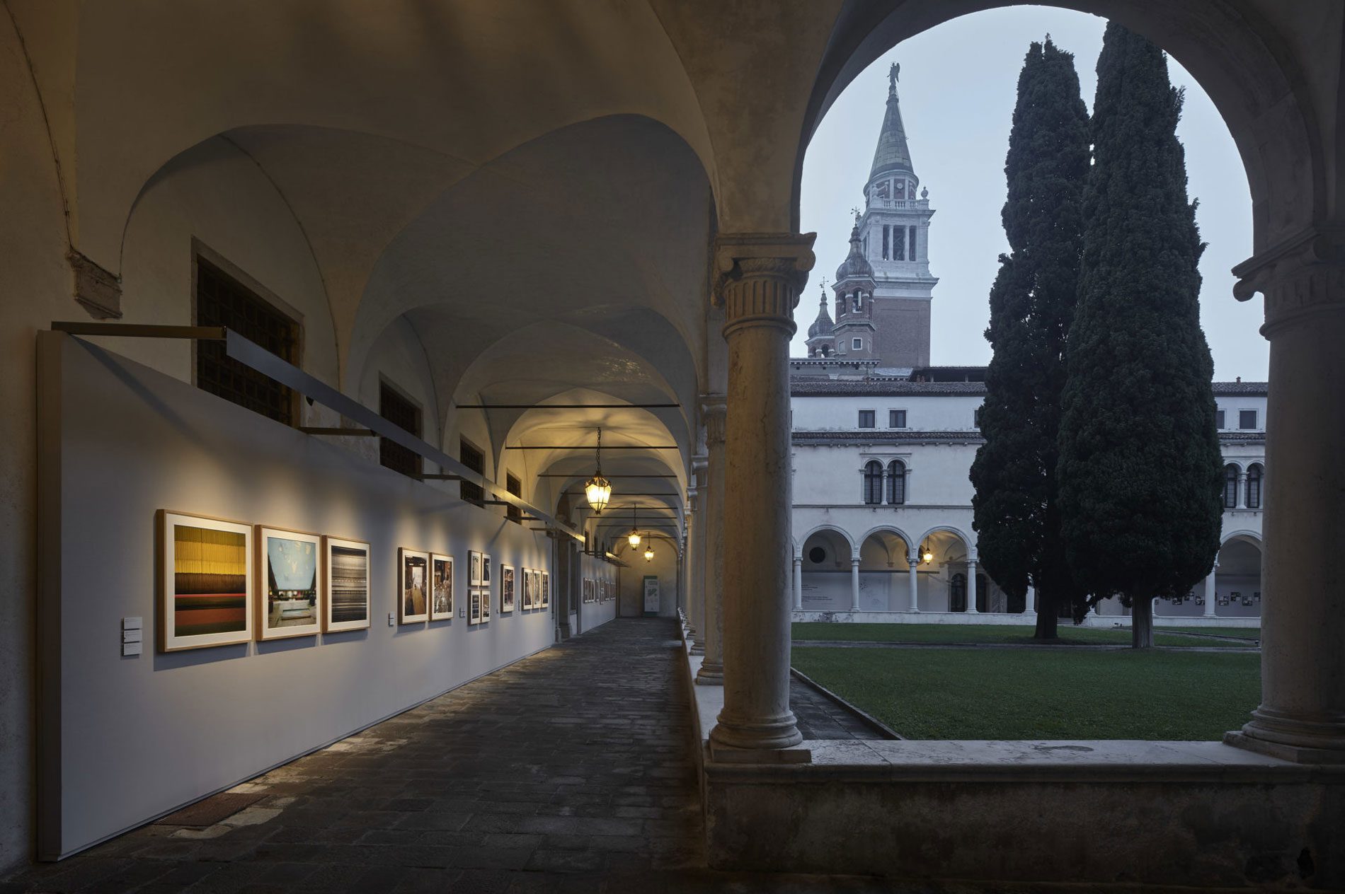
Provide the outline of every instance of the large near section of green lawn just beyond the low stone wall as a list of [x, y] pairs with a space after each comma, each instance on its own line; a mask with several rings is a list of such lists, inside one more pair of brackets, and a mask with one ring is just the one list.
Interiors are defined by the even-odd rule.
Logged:
[[1260, 703], [1260, 655], [802, 647], [794, 665], [917, 739], [1217, 739]]

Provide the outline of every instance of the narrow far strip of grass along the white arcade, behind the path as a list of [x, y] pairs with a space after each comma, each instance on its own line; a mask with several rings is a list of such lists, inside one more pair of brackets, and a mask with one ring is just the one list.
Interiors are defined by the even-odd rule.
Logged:
[[[1194, 628], [1189, 628], [1194, 629]], [[1210, 629], [1210, 633], [1221, 633]], [[1010, 643], [1030, 644], [1032, 628], [1013, 624], [829, 624], [800, 621], [794, 625], [795, 640], [833, 640], [845, 643]], [[1251, 637], [1256, 639], [1256, 637]], [[1064, 644], [1128, 645], [1130, 629], [1060, 625]], [[1239, 643], [1225, 643], [1208, 637], [1181, 636], [1155, 628], [1157, 645], [1198, 645], [1202, 648], [1243, 648]], [[1250, 645], [1250, 644], [1248, 644]]]

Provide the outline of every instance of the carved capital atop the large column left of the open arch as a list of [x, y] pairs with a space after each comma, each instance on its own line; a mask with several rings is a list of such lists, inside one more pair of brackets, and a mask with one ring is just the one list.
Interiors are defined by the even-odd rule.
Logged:
[[816, 233], [736, 233], [714, 242], [716, 307], [724, 335], [746, 327], [776, 327], [794, 335], [794, 307], [816, 262]]

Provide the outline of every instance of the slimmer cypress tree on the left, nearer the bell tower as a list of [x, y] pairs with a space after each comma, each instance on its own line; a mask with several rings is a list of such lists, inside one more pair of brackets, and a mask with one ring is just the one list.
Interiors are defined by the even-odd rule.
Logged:
[[981, 411], [985, 445], [971, 465], [978, 553], [1015, 601], [1037, 590], [1037, 639], [1056, 639], [1056, 618], [1085, 608], [1060, 535], [1056, 460], [1065, 337], [1079, 289], [1081, 202], [1088, 175], [1088, 110], [1075, 58], [1033, 43], [1018, 74], [1018, 102], [1005, 157], [1002, 218], [1009, 254], [990, 290], [994, 348]]

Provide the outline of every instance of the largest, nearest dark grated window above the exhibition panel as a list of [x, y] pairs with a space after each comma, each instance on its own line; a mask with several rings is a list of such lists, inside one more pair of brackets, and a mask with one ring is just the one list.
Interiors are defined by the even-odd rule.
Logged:
[[[196, 258], [196, 325], [222, 325], [286, 363], [299, 360], [299, 324], [241, 282]], [[225, 354], [223, 341], [196, 341], [196, 386], [277, 422], [295, 425], [295, 393]]]

